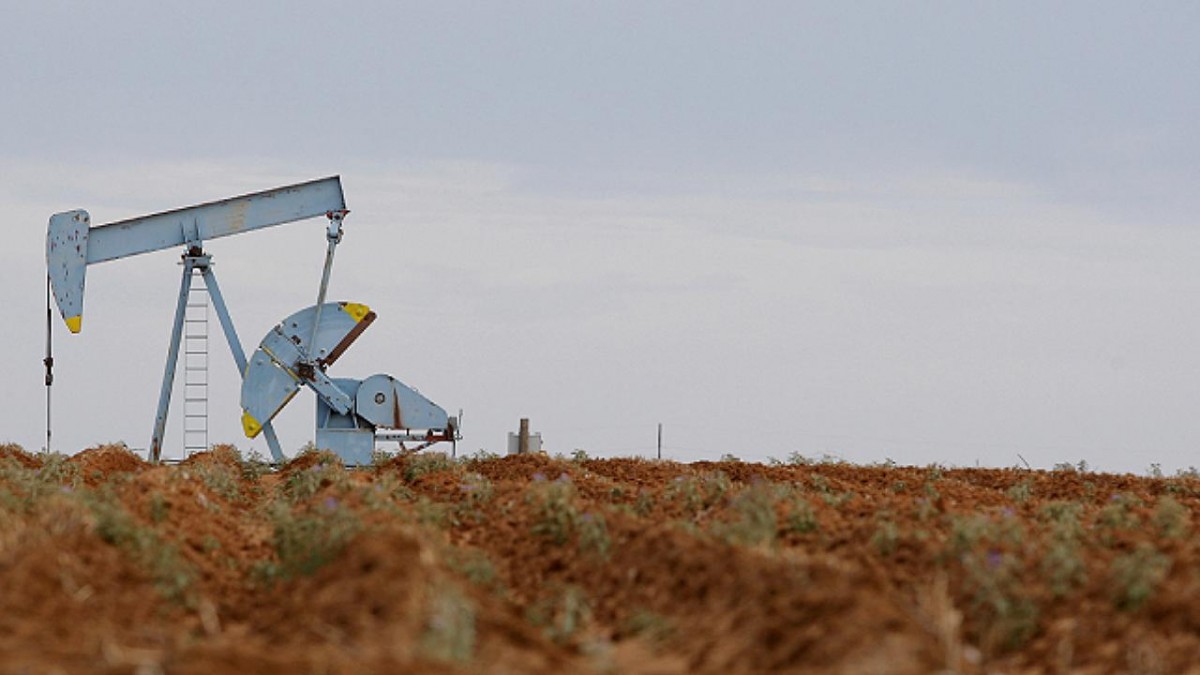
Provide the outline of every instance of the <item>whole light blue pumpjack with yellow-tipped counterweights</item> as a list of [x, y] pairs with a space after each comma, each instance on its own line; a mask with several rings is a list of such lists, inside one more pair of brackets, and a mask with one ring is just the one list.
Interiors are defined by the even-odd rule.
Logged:
[[[390, 375], [372, 375], [362, 380], [326, 375], [328, 369], [376, 319], [376, 313], [361, 303], [325, 300], [334, 252], [342, 240], [347, 214], [341, 179], [335, 175], [96, 227], [91, 226], [91, 217], [83, 209], [50, 216], [46, 233], [48, 285], [67, 329], [73, 334], [83, 328], [84, 281], [89, 265], [182, 247], [182, 283], [150, 437], [151, 461], [160, 461], [162, 456], [194, 271], [204, 279], [234, 364], [241, 374], [242, 430], [250, 438], [265, 435], [276, 462], [286, 458], [271, 420], [305, 387], [317, 395], [316, 446], [332, 450], [349, 466], [370, 464], [377, 441], [396, 441], [402, 448], [406, 442], [412, 442], [416, 443], [414, 449], [420, 449], [443, 441], [455, 443], [461, 438], [457, 417], [448, 416], [416, 389]], [[217, 285], [212, 256], [204, 251], [204, 243], [322, 215], [329, 222], [317, 304], [281, 321], [247, 359]], [[53, 364], [49, 353], [46, 362], [49, 387]]]

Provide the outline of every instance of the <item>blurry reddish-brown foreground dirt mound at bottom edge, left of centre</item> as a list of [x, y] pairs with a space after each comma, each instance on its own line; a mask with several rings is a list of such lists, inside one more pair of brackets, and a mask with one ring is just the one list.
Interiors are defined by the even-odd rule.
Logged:
[[336, 563], [281, 586], [254, 631], [284, 649], [336, 635], [336, 650], [370, 671], [457, 669], [490, 673], [571, 670], [575, 661], [496, 598], [463, 586], [415, 532], [389, 530], [346, 546]]

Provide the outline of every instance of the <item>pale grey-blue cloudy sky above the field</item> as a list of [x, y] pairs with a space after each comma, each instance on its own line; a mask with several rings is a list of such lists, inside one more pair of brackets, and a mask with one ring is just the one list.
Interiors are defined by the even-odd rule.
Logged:
[[[44, 446], [44, 237], [340, 174], [331, 369], [461, 452], [1200, 465], [1194, 2], [5, 2], [0, 441]], [[247, 352], [324, 219], [208, 245]], [[149, 444], [179, 251], [55, 313], [55, 450]], [[214, 321], [214, 329], [216, 323]], [[214, 335], [210, 441], [241, 436]], [[335, 372], [336, 371], [336, 372]], [[312, 438], [313, 398], [278, 418]], [[167, 454], [180, 450], [176, 404]]]

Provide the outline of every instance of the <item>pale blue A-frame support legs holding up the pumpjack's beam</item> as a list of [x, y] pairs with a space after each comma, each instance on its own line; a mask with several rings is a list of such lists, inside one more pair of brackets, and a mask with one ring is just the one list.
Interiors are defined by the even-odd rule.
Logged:
[[[175, 366], [179, 363], [179, 345], [184, 335], [184, 316], [187, 307], [187, 297], [191, 292], [192, 274], [199, 270], [204, 277], [204, 283], [209, 288], [209, 297], [212, 299], [212, 309], [221, 321], [221, 329], [226, 341], [229, 342], [229, 351], [233, 353], [234, 365], [238, 366], [238, 377], [246, 372], [246, 352], [238, 340], [238, 331], [234, 329], [233, 318], [224, 304], [221, 287], [217, 285], [216, 273], [212, 270], [212, 256], [205, 253], [197, 241], [188, 243], [188, 250], [184, 253], [184, 276], [179, 286], [179, 300], [175, 304], [175, 323], [170, 331], [170, 344], [167, 347], [167, 365], [162, 372], [162, 389], [158, 392], [158, 411], [155, 413], [154, 432], [150, 436], [150, 461], [158, 462], [162, 458], [162, 442], [167, 430], [167, 414], [170, 410], [170, 394], [175, 386]], [[263, 425], [266, 436], [266, 446], [271, 452], [271, 458], [276, 462], [283, 462], [283, 450], [280, 447], [278, 436], [270, 422]]]

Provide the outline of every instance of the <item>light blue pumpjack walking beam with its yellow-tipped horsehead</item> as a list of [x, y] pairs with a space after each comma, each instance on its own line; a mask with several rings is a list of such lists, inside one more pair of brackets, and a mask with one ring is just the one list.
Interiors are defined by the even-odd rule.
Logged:
[[88, 265], [346, 210], [338, 177], [90, 227], [85, 210], [50, 216], [46, 269], [71, 333], [83, 324]]

